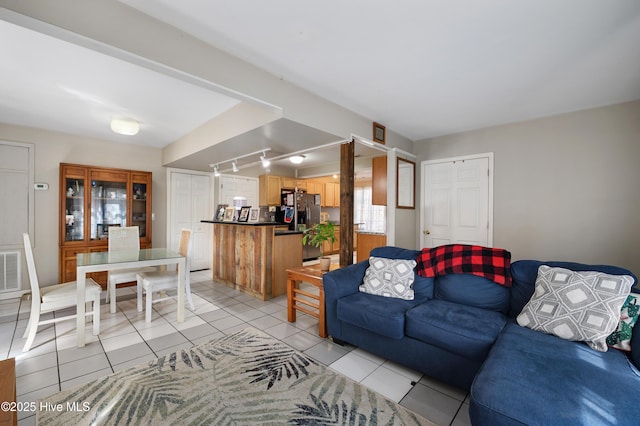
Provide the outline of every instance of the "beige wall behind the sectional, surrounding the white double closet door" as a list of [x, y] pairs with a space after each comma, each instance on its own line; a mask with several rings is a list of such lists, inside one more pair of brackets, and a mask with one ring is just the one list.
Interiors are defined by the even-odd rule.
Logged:
[[415, 143], [418, 161], [495, 153], [494, 246], [640, 274], [640, 101]]

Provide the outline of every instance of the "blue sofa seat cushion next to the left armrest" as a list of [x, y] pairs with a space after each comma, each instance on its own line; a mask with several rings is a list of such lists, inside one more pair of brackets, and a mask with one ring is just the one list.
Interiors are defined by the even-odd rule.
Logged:
[[405, 313], [426, 302], [425, 296], [402, 300], [367, 293], [356, 293], [338, 300], [338, 319], [389, 337], [404, 337]]

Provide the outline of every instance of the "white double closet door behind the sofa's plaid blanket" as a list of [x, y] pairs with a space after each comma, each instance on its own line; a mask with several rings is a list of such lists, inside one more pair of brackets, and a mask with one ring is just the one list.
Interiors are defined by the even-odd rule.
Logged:
[[493, 157], [422, 163], [421, 246], [491, 246]]

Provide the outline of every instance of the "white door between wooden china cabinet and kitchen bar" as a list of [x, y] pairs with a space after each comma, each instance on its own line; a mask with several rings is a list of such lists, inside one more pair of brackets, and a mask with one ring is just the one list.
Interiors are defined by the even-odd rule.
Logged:
[[210, 267], [211, 177], [172, 171], [170, 173], [169, 247], [178, 250], [180, 230], [191, 229], [191, 270]]

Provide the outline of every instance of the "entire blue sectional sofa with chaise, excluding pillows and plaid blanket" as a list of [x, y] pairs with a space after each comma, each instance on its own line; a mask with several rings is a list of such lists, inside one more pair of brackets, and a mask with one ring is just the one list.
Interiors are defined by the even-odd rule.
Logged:
[[[371, 256], [416, 259], [380, 247]], [[414, 300], [359, 292], [368, 261], [324, 275], [329, 335], [454, 386], [470, 389], [474, 425], [635, 424], [640, 421], [640, 333], [629, 354], [598, 352], [517, 324], [543, 262], [511, 265], [512, 286], [454, 274], [415, 275]], [[613, 266], [544, 262], [630, 275]]]

